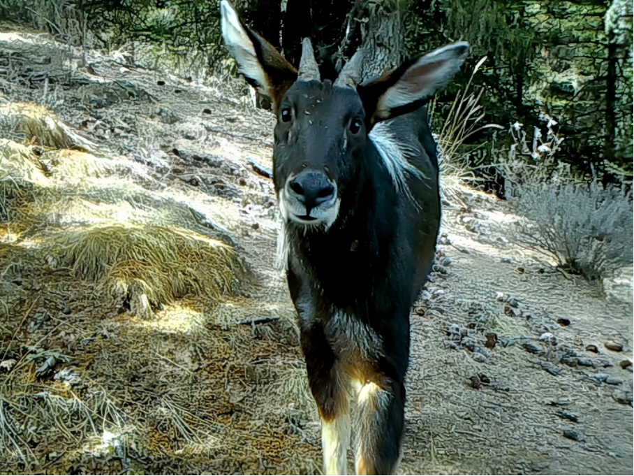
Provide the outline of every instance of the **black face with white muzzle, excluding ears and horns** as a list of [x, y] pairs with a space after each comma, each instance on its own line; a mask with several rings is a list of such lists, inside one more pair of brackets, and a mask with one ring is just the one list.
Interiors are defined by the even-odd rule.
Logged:
[[274, 184], [286, 222], [330, 227], [367, 141], [359, 94], [330, 80], [297, 81], [277, 110]]

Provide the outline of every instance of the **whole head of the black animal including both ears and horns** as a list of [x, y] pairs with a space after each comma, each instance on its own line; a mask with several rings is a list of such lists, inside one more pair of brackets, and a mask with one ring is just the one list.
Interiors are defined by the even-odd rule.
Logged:
[[358, 177], [376, 122], [420, 107], [458, 71], [469, 50], [454, 43], [360, 84], [361, 52], [322, 81], [304, 39], [299, 70], [221, 1], [223, 38], [247, 82], [270, 96], [277, 114], [273, 181], [283, 219], [329, 228], [341, 194]]

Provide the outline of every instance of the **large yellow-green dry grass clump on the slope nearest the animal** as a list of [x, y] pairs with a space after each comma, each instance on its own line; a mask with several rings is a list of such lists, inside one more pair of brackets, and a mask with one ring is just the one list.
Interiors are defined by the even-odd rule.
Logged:
[[107, 281], [140, 315], [189, 294], [219, 298], [239, 273], [232, 248], [173, 227], [92, 226], [65, 233], [55, 247], [75, 277]]

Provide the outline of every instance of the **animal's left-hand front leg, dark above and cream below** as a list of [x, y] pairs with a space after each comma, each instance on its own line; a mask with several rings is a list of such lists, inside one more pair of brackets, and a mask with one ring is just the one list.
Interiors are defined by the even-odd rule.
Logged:
[[321, 418], [323, 473], [346, 475], [346, 452], [350, 442], [346, 377], [320, 324], [312, 324], [308, 329], [302, 330], [302, 349], [306, 358], [309, 386]]

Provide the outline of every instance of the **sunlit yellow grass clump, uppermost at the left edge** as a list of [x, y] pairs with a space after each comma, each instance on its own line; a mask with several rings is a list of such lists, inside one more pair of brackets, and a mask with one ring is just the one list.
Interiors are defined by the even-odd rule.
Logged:
[[1, 104], [0, 131], [45, 149], [67, 149], [73, 145], [57, 116], [34, 103]]

